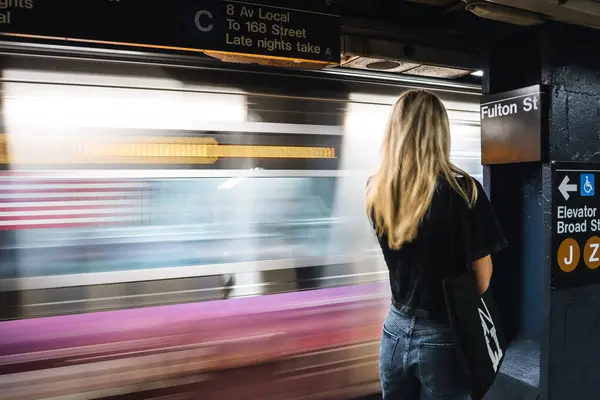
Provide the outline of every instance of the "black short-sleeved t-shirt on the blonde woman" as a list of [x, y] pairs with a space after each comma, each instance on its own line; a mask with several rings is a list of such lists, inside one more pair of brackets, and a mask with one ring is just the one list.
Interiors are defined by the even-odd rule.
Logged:
[[438, 179], [437, 190], [417, 237], [400, 250], [389, 248], [386, 235], [379, 239], [396, 302], [432, 315], [443, 315], [446, 308], [442, 281], [467, 267], [463, 213], [468, 213], [471, 225], [471, 260], [508, 245], [483, 187], [477, 181], [476, 185], [477, 202], [469, 209], [446, 180]]

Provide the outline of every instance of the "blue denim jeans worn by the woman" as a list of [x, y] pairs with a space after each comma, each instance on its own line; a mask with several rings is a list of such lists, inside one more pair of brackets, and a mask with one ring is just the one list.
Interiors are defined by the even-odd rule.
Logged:
[[450, 325], [407, 317], [394, 306], [379, 353], [384, 400], [470, 400]]

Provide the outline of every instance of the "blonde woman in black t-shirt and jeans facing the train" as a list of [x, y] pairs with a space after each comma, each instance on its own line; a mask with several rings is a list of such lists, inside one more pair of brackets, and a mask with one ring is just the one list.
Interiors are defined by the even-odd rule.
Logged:
[[469, 257], [483, 293], [490, 254], [507, 243], [481, 185], [450, 162], [448, 115], [433, 94], [411, 90], [394, 105], [366, 204], [392, 289], [379, 355], [384, 400], [470, 399], [442, 281], [464, 271]]

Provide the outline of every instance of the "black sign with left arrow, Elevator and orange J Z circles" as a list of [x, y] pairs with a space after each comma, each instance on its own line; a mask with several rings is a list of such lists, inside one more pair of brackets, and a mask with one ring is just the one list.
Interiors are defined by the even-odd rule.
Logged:
[[552, 287], [600, 283], [600, 164], [552, 164]]

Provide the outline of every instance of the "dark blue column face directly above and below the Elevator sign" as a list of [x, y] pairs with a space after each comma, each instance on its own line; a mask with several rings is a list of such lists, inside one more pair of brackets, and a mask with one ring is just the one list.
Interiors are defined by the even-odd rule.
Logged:
[[[600, 162], [599, 41], [595, 30], [553, 25], [544, 31], [542, 79], [552, 89], [551, 160]], [[547, 398], [598, 398], [600, 286], [550, 291], [545, 311]]]

